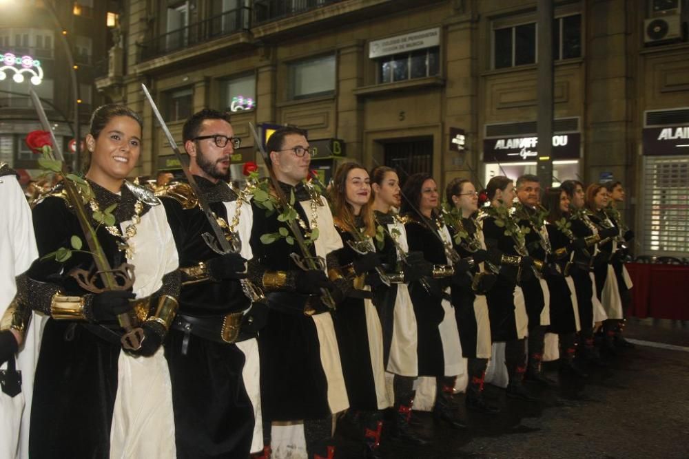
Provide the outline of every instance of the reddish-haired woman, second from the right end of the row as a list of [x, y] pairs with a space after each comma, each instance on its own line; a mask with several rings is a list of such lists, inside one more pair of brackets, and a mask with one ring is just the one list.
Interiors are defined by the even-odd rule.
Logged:
[[617, 253], [619, 229], [605, 213], [610, 195], [603, 184], [590, 184], [586, 189], [586, 206], [590, 220], [597, 226], [601, 241], [598, 248], [601, 251], [594, 266], [596, 277], [596, 293], [606, 311], [608, 319], [603, 322], [603, 345], [610, 354], [615, 354], [615, 330], [624, 318], [624, 307], [617, 283], [617, 275], [613, 267], [613, 257]]

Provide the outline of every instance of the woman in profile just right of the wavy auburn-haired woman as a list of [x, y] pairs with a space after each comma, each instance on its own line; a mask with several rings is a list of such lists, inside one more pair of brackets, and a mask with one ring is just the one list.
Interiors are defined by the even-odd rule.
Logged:
[[[393, 378], [393, 438], [426, 444], [409, 425], [418, 370], [418, 331], [409, 284], [431, 274], [423, 254], [409, 252], [407, 231], [394, 209], [400, 208], [400, 180], [391, 167], [371, 170], [373, 216], [376, 220], [376, 245], [383, 256], [383, 268], [390, 285], [380, 283], [373, 290], [383, 334], [385, 371]], [[382, 241], [381, 241], [382, 239]]]

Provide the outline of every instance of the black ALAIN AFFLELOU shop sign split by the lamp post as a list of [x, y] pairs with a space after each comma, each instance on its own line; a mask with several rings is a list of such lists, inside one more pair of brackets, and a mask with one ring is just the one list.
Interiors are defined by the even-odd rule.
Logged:
[[[508, 137], [491, 138], [483, 141], [483, 160], [485, 162], [522, 162], [538, 158], [538, 138]], [[555, 134], [553, 136], [553, 160], [579, 159], [581, 134]]]

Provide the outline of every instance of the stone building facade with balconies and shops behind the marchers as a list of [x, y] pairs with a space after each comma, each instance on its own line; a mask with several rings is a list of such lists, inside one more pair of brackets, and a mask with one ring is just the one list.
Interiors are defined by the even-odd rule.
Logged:
[[[237, 164], [254, 160], [254, 122], [307, 129], [326, 176], [342, 158], [431, 171], [440, 186], [535, 171], [537, 1], [123, 3], [96, 87], [143, 114], [139, 173], [174, 167], [141, 83], [178, 140], [188, 114], [232, 111]], [[689, 250], [688, 12], [683, 0], [554, 3], [553, 183], [621, 180], [637, 254]]]

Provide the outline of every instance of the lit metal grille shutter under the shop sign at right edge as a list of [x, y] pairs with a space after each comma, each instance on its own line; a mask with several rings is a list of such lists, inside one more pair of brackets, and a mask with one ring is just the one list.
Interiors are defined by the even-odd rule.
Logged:
[[689, 158], [644, 158], [644, 253], [689, 252]]

